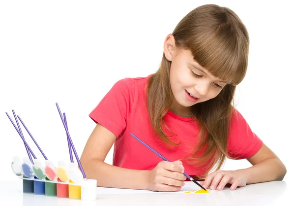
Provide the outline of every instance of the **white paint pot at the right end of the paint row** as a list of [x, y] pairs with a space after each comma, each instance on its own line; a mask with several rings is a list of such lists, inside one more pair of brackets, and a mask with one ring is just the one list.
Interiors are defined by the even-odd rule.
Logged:
[[81, 200], [96, 200], [96, 179], [85, 179], [81, 184]]

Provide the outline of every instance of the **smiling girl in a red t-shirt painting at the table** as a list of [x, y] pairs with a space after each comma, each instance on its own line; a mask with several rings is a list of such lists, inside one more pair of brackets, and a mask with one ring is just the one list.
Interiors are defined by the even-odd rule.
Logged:
[[[97, 186], [152, 191], [179, 190], [184, 171], [211, 190], [282, 180], [284, 164], [232, 106], [248, 50], [247, 30], [232, 10], [208, 4], [189, 12], [166, 37], [158, 71], [119, 80], [89, 114], [97, 125], [81, 156], [87, 177]], [[176, 161], [162, 161], [129, 133]], [[253, 166], [219, 170], [225, 158]]]

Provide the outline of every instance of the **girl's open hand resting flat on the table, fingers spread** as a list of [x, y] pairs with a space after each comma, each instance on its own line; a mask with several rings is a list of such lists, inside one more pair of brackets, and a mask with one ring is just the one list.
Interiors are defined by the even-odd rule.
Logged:
[[235, 190], [236, 187], [244, 187], [247, 183], [247, 177], [240, 171], [222, 171], [218, 170], [207, 175], [203, 182], [200, 184], [207, 189], [210, 186], [210, 190], [223, 190], [224, 186], [230, 183], [232, 184], [231, 190]]

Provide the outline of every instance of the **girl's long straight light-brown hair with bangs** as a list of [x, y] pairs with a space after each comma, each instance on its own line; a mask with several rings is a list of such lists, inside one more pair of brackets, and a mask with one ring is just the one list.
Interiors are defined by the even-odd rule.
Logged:
[[[236, 85], [244, 78], [248, 65], [249, 36], [246, 27], [231, 9], [207, 4], [189, 12], [173, 31], [176, 46], [192, 52], [194, 60], [215, 77], [230, 84], [216, 98], [193, 105], [192, 117], [200, 127], [201, 139], [188, 157], [191, 164], [206, 165], [204, 178], [220, 169], [226, 157], [227, 142]], [[148, 79], [147, 106], [152, 128], [165, 143], [176, 145], [165, 134], [163, 117], [169, 110], [173, 94], [169, 72], [171, 62], [163, 54], [158, 71]], [[169, 128], [168, 128], [169, 129]], [[201, 148], [206, 147], [203, 154]], [[199, 155], [198, 155], [199, 154]]]

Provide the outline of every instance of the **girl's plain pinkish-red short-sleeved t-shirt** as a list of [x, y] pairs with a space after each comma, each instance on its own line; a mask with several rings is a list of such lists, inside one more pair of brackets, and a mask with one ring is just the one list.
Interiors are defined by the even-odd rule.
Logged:
[[[175, 133], [171, 137], [177, 146], [168, 147], [154, 134], [145, 104], [145, 87], [148, 77], [125, 78], [115, 83], [89, 117], [117, 136], [114, 145], [113, 165], [134, 170], [152, 170], [163, 161], [146, 146], [130, 135], [134, 134], [159, 152], [169, 161], [183, 160], [192, 153], [197, 142], [199, 127], [191, 118], [180, 117], [171, 111], [164, 116], [167, 126]], [[236, 111], [228, 139], [231, 157], [245, 159], [253, 156], [262, 147], [262, 140]], [[167, 130], [166, 130], [167, 131]], [[170, 133], [168, 133], [170, 134]], [[189, 175], [202, 175], [205, 166], [194, 167], [182, 161]]]

